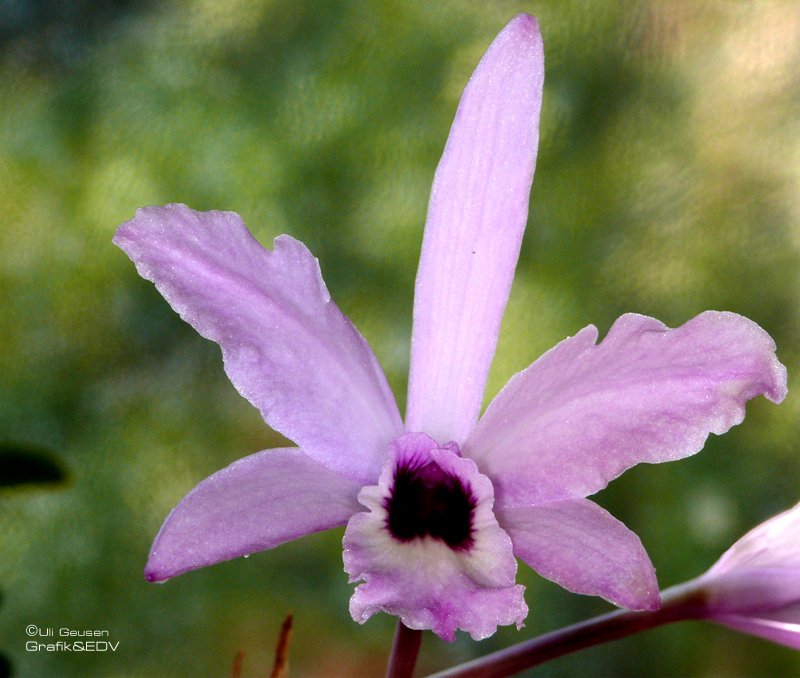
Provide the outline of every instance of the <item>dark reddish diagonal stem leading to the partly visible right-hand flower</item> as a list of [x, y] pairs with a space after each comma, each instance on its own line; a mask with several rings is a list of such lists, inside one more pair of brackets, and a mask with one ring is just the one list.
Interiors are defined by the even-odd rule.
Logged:
[[704, 592], [697, 580], [673, 586], [661, 594], [661, 607], [652, 612], [617, 610], [533, 640], [493, 652], [430, 678], [502, 678], [565, 654], [630, 636], [671, 622], [702, 617]]

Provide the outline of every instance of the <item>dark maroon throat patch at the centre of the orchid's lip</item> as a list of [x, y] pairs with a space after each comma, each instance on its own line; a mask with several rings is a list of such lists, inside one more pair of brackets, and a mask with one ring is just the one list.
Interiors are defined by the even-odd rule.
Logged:
[[431, 537], [454, 550], [474, 544], [477, 500], [469, 483], [433, 460], [398, 462], [390, 495], [384, 500], [386, 527], [400, 542]]

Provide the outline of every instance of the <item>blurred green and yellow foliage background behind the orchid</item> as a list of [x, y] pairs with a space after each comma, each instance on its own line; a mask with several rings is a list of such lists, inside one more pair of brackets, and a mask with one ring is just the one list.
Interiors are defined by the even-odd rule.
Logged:
[[[18, 676], [381, 675], [394, 620], [359, 626], [341, 530], [170, 581], [142, 567], [197, 482], [282, 444], [218, 349], [111, 245], [142, 205], [243, 215], [319, 257], [405, 399], [428, 191], [460, 92], [517, 12], [545, 40], [542, 135], [487, 397], [555, 342], [626, 311], [742, 313], [800, 369], [800, 7], [785, 2], [0, 0], [0, 442], [69, 482], [0, 490], [0, 652]], [[748, 406], [691, 459], [598, 501], [662, 585], [800, 500], [800, 398]], [[427, 637], [444, 668], [608, 609], [526, 567], [520, 632]], [[25, 627], [107, 629], [107, 654], [30, 653]], [[792, 651], [692, 623], [534, 676], [794, 676]]]

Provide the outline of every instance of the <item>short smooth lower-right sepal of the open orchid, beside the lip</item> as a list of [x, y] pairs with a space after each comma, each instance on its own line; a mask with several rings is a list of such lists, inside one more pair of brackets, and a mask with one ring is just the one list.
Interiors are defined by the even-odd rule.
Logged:
[[514, 555], [573, 593], [633, 610], [659, 605], [650, 558], [633, 532], [588, 499], [495, 509]]

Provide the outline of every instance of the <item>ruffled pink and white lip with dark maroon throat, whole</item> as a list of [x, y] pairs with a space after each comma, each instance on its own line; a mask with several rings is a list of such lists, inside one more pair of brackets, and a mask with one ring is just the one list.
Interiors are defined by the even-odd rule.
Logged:
[[525, 587], [514, 581], [513, 544], [492, 511], [489, 478], [455, 443], [425, 433], [402, 434], [388, 452], [377, 484], [358, 494], [368, 510], [354, 513], [344, 533], [345, 570], [361, 582], [353, 619], [388, 612], [447, 641], [457, 629], [479, 640], [521, 625]]

